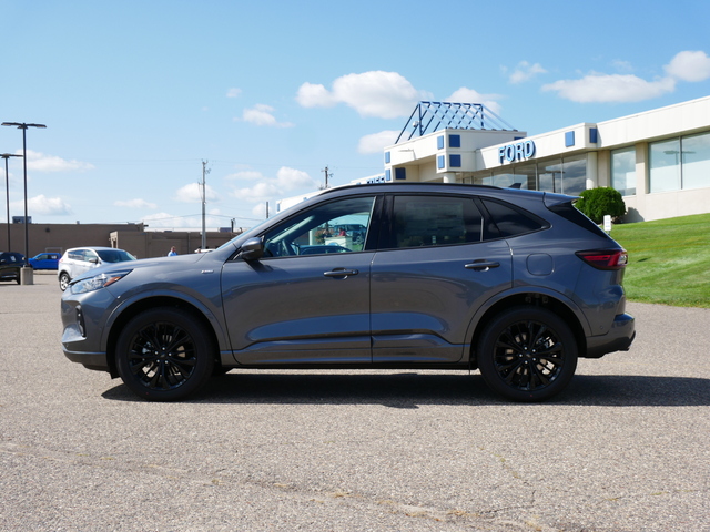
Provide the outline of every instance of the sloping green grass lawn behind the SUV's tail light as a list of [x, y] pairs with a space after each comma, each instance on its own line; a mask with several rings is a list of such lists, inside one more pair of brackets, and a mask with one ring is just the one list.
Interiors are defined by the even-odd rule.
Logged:
[[615, 225], [631, 301], [710, 308], [710, 214]]

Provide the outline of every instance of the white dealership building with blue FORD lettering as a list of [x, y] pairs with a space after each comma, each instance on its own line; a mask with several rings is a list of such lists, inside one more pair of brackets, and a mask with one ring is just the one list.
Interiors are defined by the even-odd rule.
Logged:
[[357, 182], [515, 186], [577, 195], [611, 186], [628, 222], [710, 212], [710, 96], [528, 136], [480, 104], [420, 102], [383, 175]]

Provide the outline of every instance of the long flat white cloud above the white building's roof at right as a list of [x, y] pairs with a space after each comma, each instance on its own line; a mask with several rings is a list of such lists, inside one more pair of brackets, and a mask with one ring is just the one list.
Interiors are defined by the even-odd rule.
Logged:
[[646, 81], [630, 74], [592, 73], [580, 80], [559, 80], [542, 85], [542, 90], [579, 103], [639, 102], [673, 92], [676, 81], [672, 78]]

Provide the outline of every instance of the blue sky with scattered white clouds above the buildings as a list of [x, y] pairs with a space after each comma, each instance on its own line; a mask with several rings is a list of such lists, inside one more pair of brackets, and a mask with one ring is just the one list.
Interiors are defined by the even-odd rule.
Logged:
[[537, 134], [710, 95], [708, 21], [699, 0], [0, 0], [0, 121], [47, 125], [28, 131], [34, 223], [200, 227], [207, 161], [207, 226], [251, 226], [326, 166], [333, 185], [381, 173], [422, 100]]

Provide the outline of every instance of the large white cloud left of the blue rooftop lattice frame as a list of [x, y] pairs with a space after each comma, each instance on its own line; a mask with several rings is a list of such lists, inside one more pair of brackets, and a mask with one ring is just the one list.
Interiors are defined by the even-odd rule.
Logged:
[[298, 89], [296, 101], [304, 108], [344, 103], [361, 116], [396, 119], [408, 116], [417, 102], [426, 98], [397, 72], [371, 71], [337, 78], [332, 91], [306, 82]]

